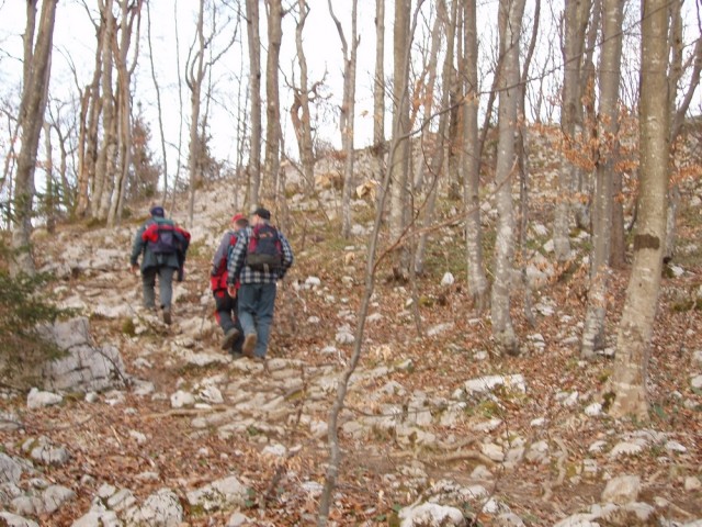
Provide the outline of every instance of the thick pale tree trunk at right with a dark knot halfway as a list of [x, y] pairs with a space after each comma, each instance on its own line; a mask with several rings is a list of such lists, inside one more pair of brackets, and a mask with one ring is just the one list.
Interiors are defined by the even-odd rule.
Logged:
[[634, 262], [616, 339], [610, 382], [610, 415], [648, 419], [646, 378], [660, 289], [666, 236], [670, 106], [667, 0], [643, 0], [641, 71], [639, 208]]

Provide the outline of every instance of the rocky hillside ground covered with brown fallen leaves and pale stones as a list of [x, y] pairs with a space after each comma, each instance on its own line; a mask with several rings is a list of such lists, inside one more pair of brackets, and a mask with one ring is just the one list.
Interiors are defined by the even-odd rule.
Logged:
[[[140, 307], [139, 278], [128, 271], [136, 222], [116, 234], [65, 226], [47, 247], [43, 264], [60, 278], [53, 296], [84, 318], [53, 329], [71, 355], [47, 371], [45, 386], [3, 392], [7, 525], [316, 524], [328, 414], [364, 290], [370, 201], [355, 203], [355, 236], [346, 242], [330, 226], [330, 190], [319, 198], [328, 214], [293, 201], [296, 262], [261, 363], [219, 349], [207, 262], [233, 210], [218, 195], [199, 197], [171, 326]], [[686, 228], [681, 247], [694, 254], [699, 231]], [[637, 423], [601, 406], [613, 348], [579, 359], [584, 270], [559, 276], [534, 258], [535, 325], [514, 290], [523, 352], [496, 357], [489, 319], [464, 287], [462, 250], [454, 254], [451, 235], [433, 239], [417, 294], [378, 273], [341, 413], [330, 524], [702, 526], [699, 260], [673, 262], [664, 280], [652, 418]], [[611, 343], [626, 279], [621, 271], [612, 280]]]

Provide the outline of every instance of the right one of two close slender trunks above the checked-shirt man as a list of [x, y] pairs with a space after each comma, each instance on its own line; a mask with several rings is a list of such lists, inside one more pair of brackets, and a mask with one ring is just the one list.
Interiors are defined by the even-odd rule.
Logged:
[[[279, 89], [279, 66], [283, 40], [282, 0], [267, 0], [268, 3], [268, 54], [265, 60], [265, 160], [264, 177], [269, 178], [268, 189], [272, 201], [278, 200], [275, 183], [280, 170], [281, 112]], [[264, 184], [265, 188], [265, 184]]]

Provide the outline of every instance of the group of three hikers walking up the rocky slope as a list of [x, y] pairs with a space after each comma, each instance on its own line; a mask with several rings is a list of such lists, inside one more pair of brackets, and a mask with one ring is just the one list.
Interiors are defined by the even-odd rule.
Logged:
[[[141, 259], [144, 305], [156, 310], [156, 277], [163, 322], [171, 323], [173, 274], [183, 279], [190, 234], [165, 217], [161, 206], [139, 227], [132, 248], [132, 269]], [[231, 218], [212, 259], [210, 289], [215, 301], [215, 319], [224, 333], [222, 349], [238, 358], [265, 359], [278, 281], [293, 265], [293, 250], [283, 233], [270, 223], [271, 213], [258, 208], [249, 221], [244, 214]]]

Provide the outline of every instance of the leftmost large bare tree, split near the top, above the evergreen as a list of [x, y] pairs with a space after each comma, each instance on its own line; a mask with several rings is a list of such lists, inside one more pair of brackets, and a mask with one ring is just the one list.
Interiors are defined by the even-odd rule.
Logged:
[[42, 2], [42, 13], [36, 26], [37, 0], [26, 2], [23, 89], [19, 119], [22, 146], [18, 156], [13, 203], [12, 248], [15, 255], [10, 261], [10, 273], [13, 277], [20, 272], [35, 272], [30, 250], [34, 170], [50, 76], [56, 3], [57, 0]]

